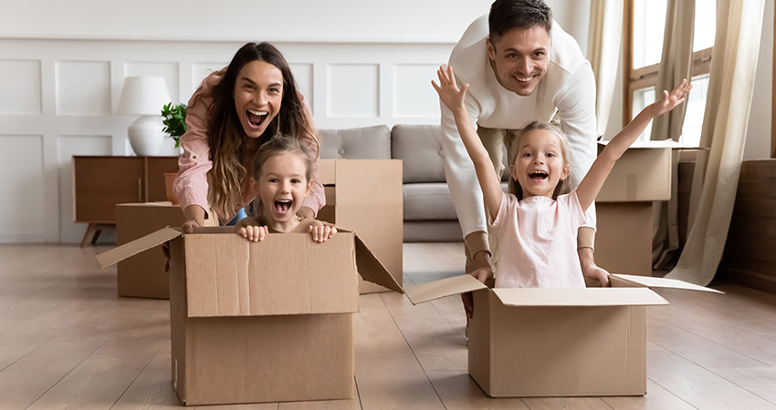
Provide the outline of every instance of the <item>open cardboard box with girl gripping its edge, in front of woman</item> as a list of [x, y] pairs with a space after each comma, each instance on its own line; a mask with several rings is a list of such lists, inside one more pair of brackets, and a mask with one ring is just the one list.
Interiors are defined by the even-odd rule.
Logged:
[[274, 233], [252, 242], [233, 228], [165, 228], [97, 258], [104, 268], [165, 241], [172, 380], [183, 405], [354, 396], [358, 274], [402, 292], [358, 236], [341, 231], [316, 243]]

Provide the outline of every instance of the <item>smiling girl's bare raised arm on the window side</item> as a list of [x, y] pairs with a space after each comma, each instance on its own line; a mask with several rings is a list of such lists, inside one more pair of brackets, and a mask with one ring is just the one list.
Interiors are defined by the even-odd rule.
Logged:
[[577, 188], [577, 196], [580, 199], [582, 210], [587, 210], [590, 207], [590, 204], [598, 195], [598, 191], [603, 187], [606, 177], [612, 171], [614, 162], [620, 159], [625, 150], [644, 132], [649, 121], [683, 103], [685, 101], [684, 96], [687, 95], [691, 88], [692, 84], [687, 84], [687, 79], [683, 79], [670, 93], [664, 90], [662, 98], [644, 108], [630, 124], [625, 126], [622, 131], [609, 141], [606, 148], [593, 161], [590, 170]]

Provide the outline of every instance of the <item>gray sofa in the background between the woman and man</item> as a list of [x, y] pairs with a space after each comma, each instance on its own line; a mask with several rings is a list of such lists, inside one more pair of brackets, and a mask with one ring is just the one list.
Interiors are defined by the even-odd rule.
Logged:
[[403, 160], [405, 242], [463, 241], [438, 126], [320, 129], [319, 135], [322, 159]]

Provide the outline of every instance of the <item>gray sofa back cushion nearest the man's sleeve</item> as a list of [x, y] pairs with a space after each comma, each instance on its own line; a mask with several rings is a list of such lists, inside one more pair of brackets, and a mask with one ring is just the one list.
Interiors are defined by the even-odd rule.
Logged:
[[439, 126], [393, 126], [393, 158], [404, 161], [404, 183], [446, 182], [441, 132]]

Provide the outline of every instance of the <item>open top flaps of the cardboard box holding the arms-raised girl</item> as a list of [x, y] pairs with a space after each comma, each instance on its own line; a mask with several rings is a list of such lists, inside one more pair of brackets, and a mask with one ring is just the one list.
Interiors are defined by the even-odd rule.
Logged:
[[[498, 299], [509, 306], [619, 306], [667, 304], [649, 288], [687, 289], [719, 292], [675, 279], [653, 278], [625, 274], [609, 276], [612, 288], [513, 288], [494, 289]], [[471, 275], [459, 275], [405, 289], [413, 304], [433, 301], [456, 293], [472, 292], [488, 287]]]

